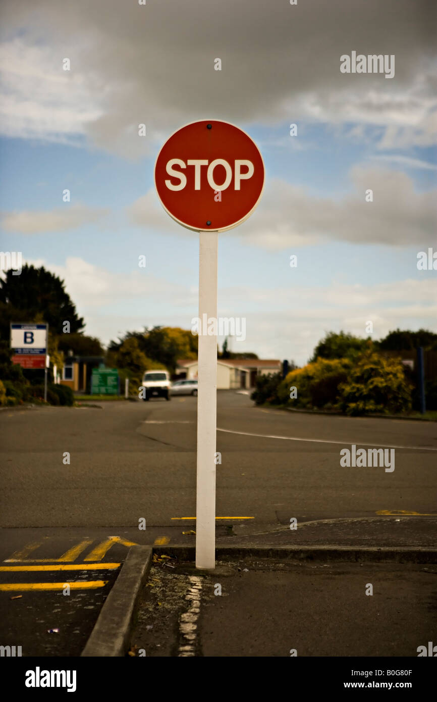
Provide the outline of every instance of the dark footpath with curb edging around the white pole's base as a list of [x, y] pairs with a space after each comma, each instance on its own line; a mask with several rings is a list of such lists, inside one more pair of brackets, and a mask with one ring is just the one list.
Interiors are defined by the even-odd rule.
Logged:
[[130, 548], [82, 655], [417, 657], [437, 642], [436, 517], [233, 532], [214, 571], [196, 569], [194, 535]]

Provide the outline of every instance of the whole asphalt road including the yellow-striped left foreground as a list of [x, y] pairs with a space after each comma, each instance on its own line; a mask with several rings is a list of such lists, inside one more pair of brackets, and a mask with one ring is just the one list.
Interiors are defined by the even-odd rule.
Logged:
[[[194, 545], [196, 398], [4, 409], [0, 431], [0, 643], [78, 655], [130, 544]], [[395, 447], [395, 469], [342, 467], [351, 444]], [[217, 543], [436, 543], [436, 423], [219, 392], [217, 451]]]

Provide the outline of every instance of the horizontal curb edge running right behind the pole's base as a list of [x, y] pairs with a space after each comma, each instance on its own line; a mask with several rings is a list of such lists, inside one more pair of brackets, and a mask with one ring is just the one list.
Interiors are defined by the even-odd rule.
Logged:
[[[194, 546], [154, 547], [156, 555], [176, 555], [180, 560], [194, 561]], [[295, 561], [349, 561], [393, 563], [437, 563], [437, 550], [420, 546], [217, 546], [217, 561], [241, 558], [275, 558]]]

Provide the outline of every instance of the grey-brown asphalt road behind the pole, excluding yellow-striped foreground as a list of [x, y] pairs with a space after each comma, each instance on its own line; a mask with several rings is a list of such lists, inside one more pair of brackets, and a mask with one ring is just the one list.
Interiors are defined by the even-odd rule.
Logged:
[[[141, 517], [159, 527], [196, 514], [196, 398], [101, 408], [1, 412], [1, 527], [135, 527]], [[436, 511], [436, 423], [264, 410], [219, 392], [217, 428], [218, 516]], [[403, 448], [393, 472], [342, 468], [351, 444]]]

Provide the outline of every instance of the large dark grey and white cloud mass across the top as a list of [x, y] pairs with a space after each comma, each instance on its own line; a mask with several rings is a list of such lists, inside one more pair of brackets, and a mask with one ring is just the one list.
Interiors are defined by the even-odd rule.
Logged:
[[[436, 143], [426, 0], [4, 0], [2, 13], [8, 135], [81, 133], [135, 156], [208, 110], [238, 123], [382, 126], [382, 148]], [[352, 49], [396, 55], [394, 79], [341, 74], [339, 57]], [[141, 122], [147, 138], [137, 136]]]

